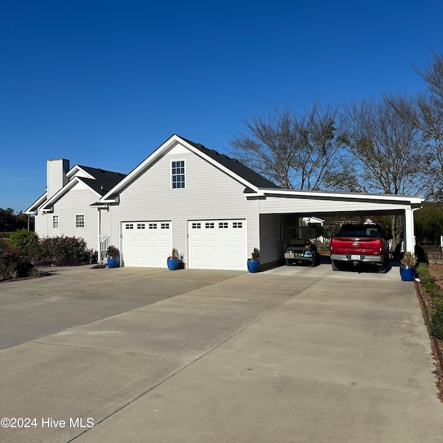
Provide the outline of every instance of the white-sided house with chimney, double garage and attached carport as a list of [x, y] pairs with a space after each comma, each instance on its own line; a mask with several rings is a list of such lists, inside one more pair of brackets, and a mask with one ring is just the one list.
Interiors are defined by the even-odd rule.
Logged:
[[36, 214], [36, 232], [84, 233], [100, 255], [114, 244], [120, 266], [165, 267], [176, 247], [190, 269], [246, 270], [258, 247], [266, 269], [282, 263], [299, 219], [346, 213], [404, 215], [412, 251], [413, 211], [422, 204], [417, 196], [282, 189], [175, 134], [127, 176], [112, 176], [107, 188], [100, 188], [100, 170], [66, 170], [66, 161], [48, 161], [48, 190], [26, 211]]

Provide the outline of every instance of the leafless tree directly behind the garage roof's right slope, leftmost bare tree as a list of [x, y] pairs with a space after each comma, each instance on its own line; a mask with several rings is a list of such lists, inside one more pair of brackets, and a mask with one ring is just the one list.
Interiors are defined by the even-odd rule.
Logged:
[[230, 153], [284, 188], [318, 190], [341, 168], [337, 116], [336, 108], [322, 109], [318, 100], [301, 114], [273, 106], [266, 118], [243, 120], [246, 132], [230, 141]]

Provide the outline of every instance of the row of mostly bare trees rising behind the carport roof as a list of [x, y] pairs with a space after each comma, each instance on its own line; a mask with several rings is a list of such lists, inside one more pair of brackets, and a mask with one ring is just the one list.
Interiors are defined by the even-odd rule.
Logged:
[[[443, 201], [443, 54], [433, 52], [426, 68], [415, 71], [424, 92], [386, 92], [326, 107], [315, 100], [300, 111], [273, 105], [268, 115], [243, 121], [230, 153], [288, 189]], [[389, 225], [398, 241], [402, 217], [390, 217]]]

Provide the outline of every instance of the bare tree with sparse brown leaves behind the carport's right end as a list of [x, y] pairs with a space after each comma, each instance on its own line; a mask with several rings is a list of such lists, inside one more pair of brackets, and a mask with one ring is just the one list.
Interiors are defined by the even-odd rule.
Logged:
[[[359, 183], [366, 192], [417, 194], [424, 187], [426, 156], [419, 129], [396, 111], [404, 98], [351, 102], [345, 106], [347, 147]], [[391, 217], [391, 235], [399, 242], [402, 220]]]

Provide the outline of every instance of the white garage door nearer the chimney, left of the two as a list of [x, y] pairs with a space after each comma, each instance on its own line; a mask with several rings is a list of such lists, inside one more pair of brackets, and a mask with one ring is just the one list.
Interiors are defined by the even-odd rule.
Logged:
[[123, 266], [166, 267], [172, 250], [170, 221], [125, 221], [122, 224]]

